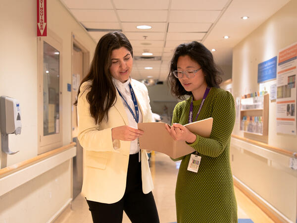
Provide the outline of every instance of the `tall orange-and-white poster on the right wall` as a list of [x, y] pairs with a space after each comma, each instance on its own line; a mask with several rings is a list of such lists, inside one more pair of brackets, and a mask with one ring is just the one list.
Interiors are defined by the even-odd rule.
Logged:
[[297, 42], [280, 50], [277, 64], [277, 133], [296, 135]]

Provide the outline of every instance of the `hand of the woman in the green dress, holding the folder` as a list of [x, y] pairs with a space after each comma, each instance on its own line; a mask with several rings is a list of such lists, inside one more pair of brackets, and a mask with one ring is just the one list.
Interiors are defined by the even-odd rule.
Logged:
[[181, 124], [174, 123], [171, 127], [166, 124], [165, 127], [171, 137], [176, 141], [183, 140], [190, 144], [196, 141], [196, 135]]

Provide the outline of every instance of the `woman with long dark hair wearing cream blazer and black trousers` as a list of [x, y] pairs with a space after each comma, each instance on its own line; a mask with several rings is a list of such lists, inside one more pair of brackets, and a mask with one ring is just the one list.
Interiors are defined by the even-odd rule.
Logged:
[[86, 150], [82, 194], [94, 223], [159, 223], [139, 122], [151, 122], [146, 86], [132, 78], [133, 50], [120, 32], [104, 35], [77, 99], [78, 139]]

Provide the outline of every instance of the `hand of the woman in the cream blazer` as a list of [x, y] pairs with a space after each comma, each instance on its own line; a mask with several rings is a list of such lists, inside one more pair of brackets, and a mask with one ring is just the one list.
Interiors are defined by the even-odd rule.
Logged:
[[122, 141], [133, 141], [142, 134], [144, 134], [143, 130], [128, 125], [122, 125], [111, 129], [112, 140], [119, 139]]

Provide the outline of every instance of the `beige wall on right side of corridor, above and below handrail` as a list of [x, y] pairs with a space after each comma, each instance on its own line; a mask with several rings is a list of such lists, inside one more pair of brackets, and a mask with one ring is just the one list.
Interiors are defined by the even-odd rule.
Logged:
[[[278, 51], [297, 42], [297, 0], [291, 0], [267, 21], [255, 29], [233, 50], [232, 92], [234, 98], [258, 91], [258, 63], [278, 55]], [[269, 145], [297, 152], [297, 136], [276, 133], [276, 102], [269, 102]], [[244, 136], [239, 121], [234, 134]], [[269, 165], [265, 157], [241, 152], [231, 146], [233, 173], [291, 221], [297, 215], [297, 171], [289, 164]], [[269, 159], [268, 159], [269, 160]]]

